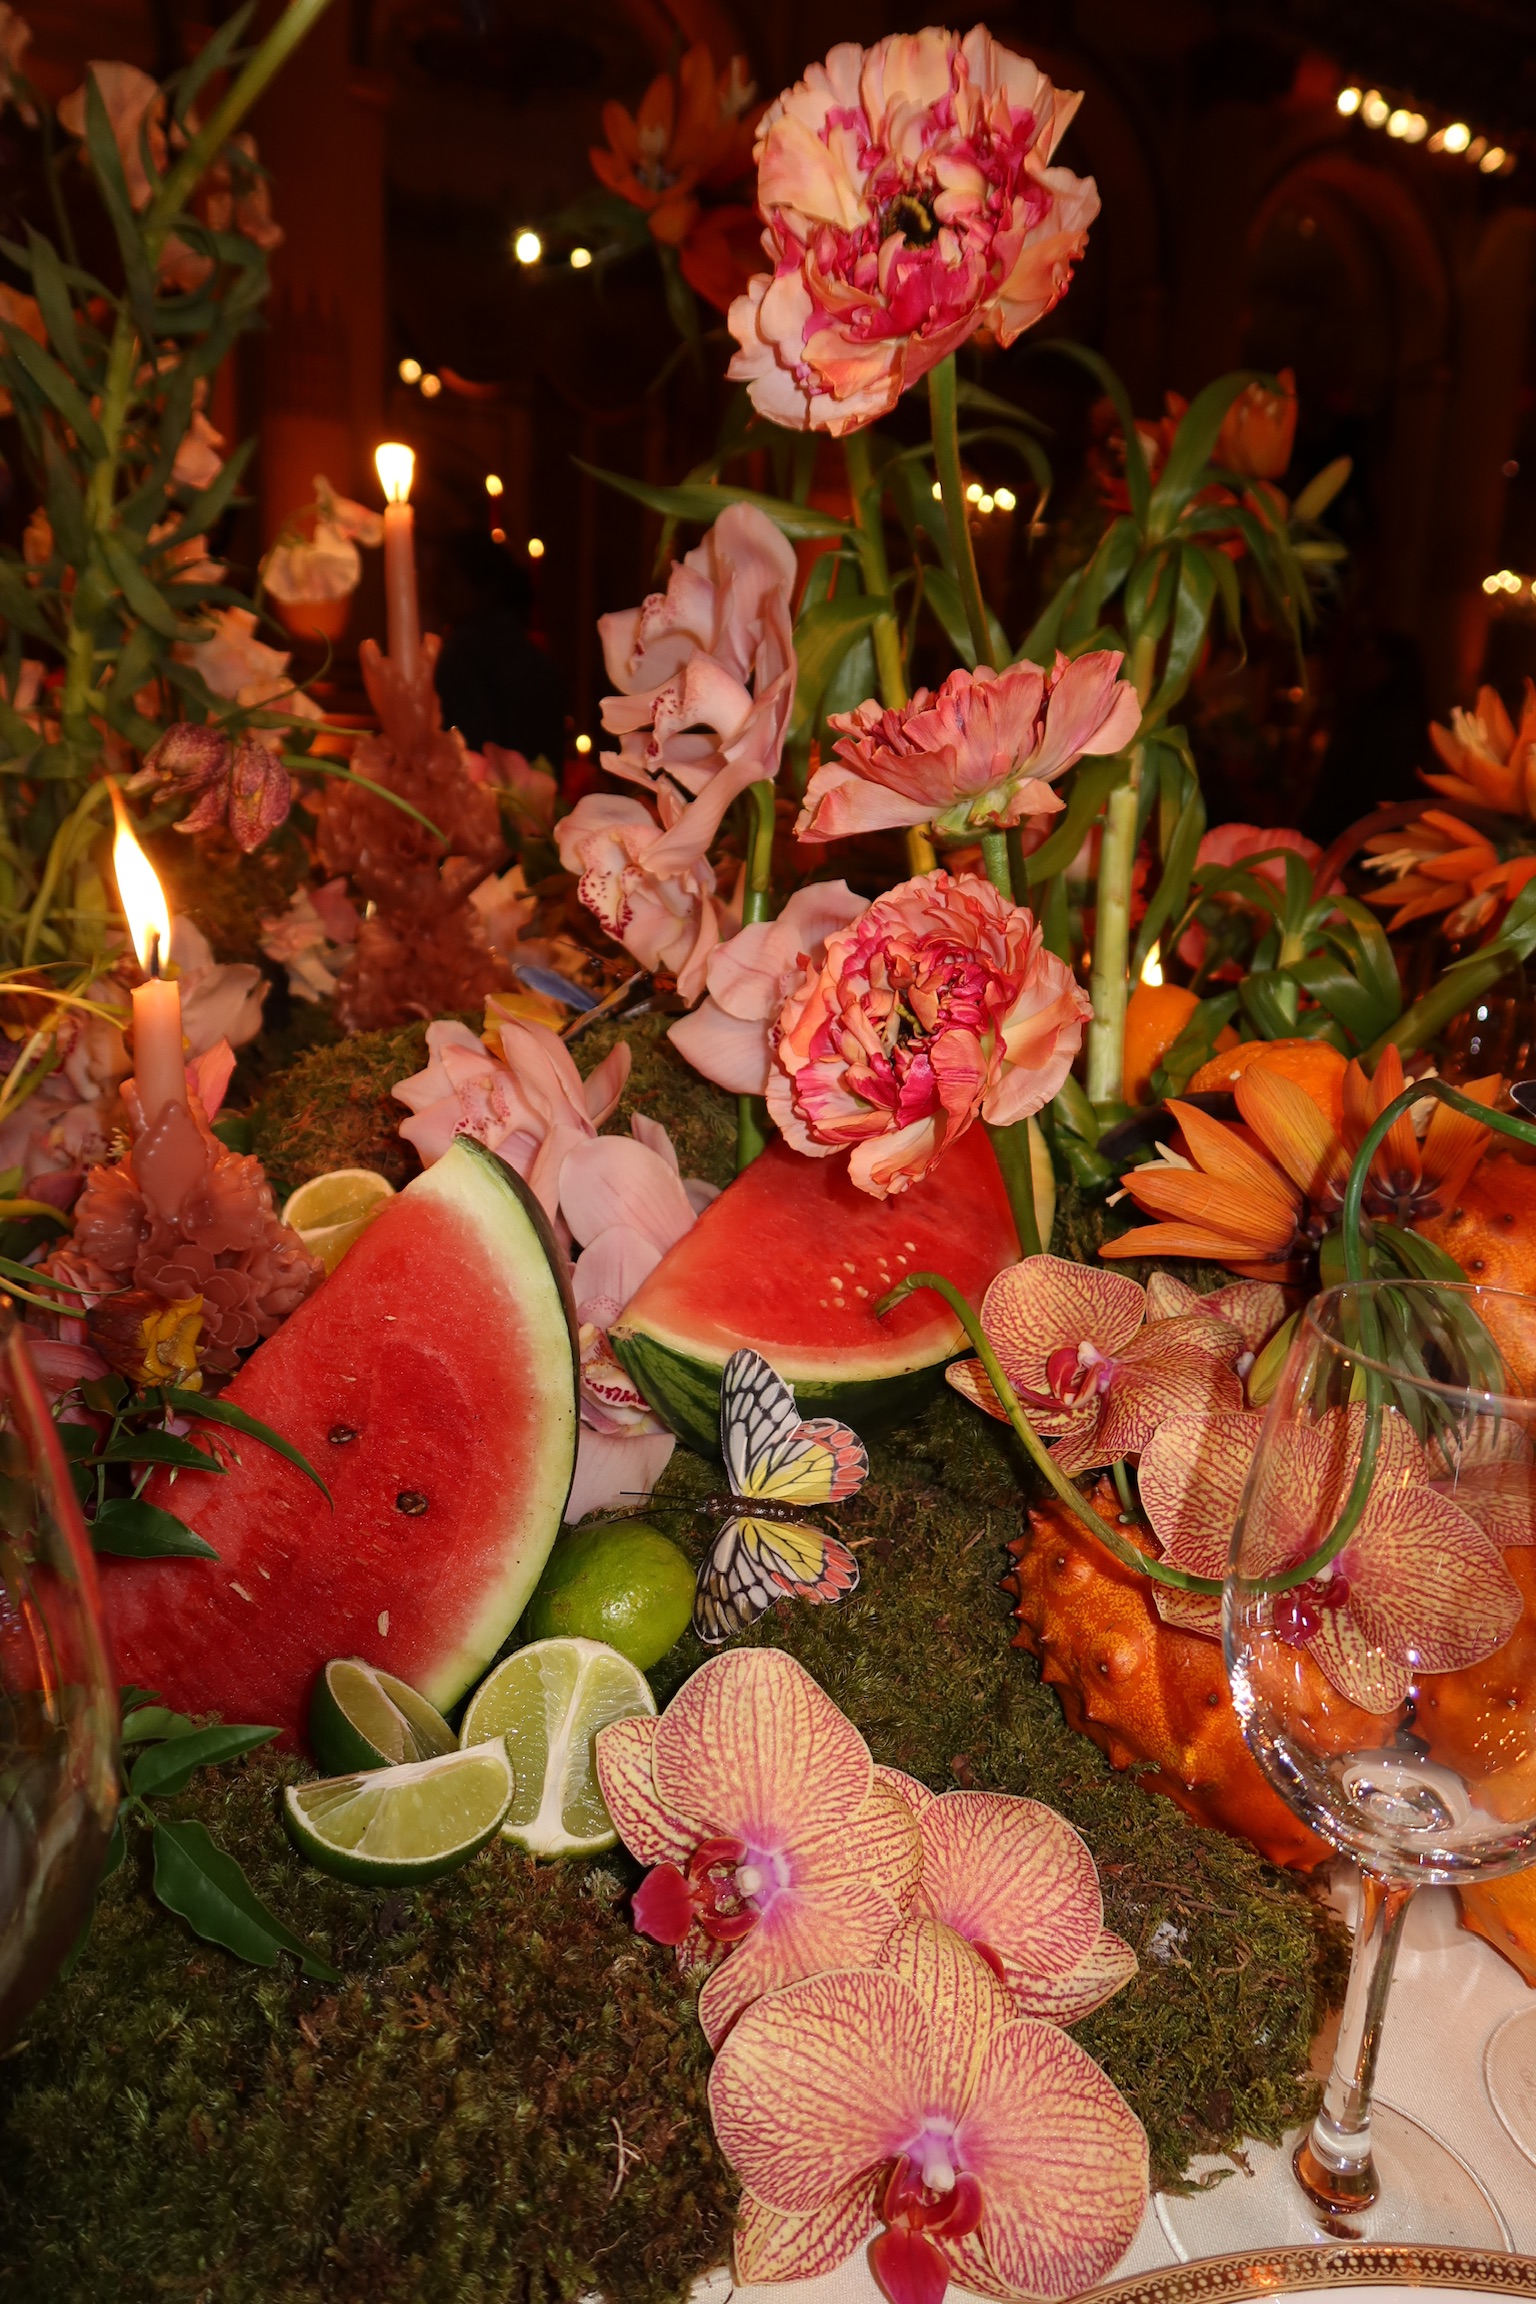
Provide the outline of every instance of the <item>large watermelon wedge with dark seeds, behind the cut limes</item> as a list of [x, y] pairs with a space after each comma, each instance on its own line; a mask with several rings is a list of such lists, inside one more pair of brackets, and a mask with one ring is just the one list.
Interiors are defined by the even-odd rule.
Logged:
[[336, 1509], [253, 1440], [226, 1475], [157, 1472], [147, 1500], [219, 1558], [99, 1562], [120, 1680], [290, 1737], [332, 1657], [456, 1703], [571, 1491], [564, 1270], [527, 1187], [458, 1136], [223, 1394], [309, 1456]]

